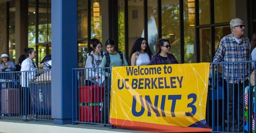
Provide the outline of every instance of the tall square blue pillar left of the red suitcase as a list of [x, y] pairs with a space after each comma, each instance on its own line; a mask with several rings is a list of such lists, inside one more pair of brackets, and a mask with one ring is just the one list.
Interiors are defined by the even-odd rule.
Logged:
[[54, 0], [52, 7], [52, 118], [72, 123], [72, 68], [77, 68], [77, 1]]

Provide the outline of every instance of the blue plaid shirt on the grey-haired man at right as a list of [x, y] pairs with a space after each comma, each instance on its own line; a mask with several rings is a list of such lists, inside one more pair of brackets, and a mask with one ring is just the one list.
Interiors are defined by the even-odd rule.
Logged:
[[[239, 43], [234, 39], [233, 33], [221, 39], [214, 62], [239, 62], [250, 61], [250, 42], [242, 36]], [[248, 77], [248, 65], [250, 63], [224, 64], [224, 78], [228, 83], [239, 83]]]

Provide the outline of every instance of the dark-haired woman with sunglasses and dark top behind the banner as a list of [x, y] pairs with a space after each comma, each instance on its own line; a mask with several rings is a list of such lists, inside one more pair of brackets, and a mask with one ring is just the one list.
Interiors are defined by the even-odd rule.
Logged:
[[152, 57], [150, 65], [159, 64], [178, 64], [173, 54], [169, 54], [170, 41], [168, 39], [159, 39], [156, 44], [156, 55]]

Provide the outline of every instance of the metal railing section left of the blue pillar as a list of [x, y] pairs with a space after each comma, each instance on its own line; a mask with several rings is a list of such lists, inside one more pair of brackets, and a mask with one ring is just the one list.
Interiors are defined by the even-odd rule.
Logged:
[[51, 71], [0, 72], [2, 118], [52, 120]]

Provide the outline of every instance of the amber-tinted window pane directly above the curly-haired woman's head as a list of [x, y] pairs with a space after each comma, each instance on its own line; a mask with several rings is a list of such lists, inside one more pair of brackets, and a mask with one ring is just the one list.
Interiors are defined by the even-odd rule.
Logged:
[[[135, 26], [136, 25], [136, 26]], [[144, 37], [143, 1], [128, 1], [129, 57], [135, 40]]]

